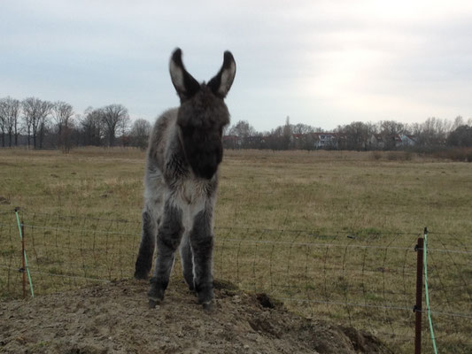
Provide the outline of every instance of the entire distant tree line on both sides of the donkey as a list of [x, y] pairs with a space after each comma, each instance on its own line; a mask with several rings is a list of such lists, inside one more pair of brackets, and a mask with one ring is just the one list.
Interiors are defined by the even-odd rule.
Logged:
[[[135, 146], [145, 149], [151, 132], [146, 119], [129, 118], [122, 104], [89, 107], [82, 113], [63, 101], [37, 97], [18, 100], [0, 98], [2, 147], [27, 145], [32, 149], [61, 149], [78, 146]], [[472, 119], [429, 118], [422, 123], [395, 120], [376, 123], [355, 121], [332, 131], [306, 124], [285, 124], [258, 132], [247, 120], [225, 129], [227, 149], [336, 149], [336, 150], [435, 150], [443, 147], [472, 147]], [[405, 143], [405, 142], [407, 143]]]

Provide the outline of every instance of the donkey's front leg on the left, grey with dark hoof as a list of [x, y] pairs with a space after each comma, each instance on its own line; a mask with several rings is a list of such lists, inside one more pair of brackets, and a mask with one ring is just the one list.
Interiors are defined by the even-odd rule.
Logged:
[[175, 250], [179, 247], [183, 232], [182, 209], [166, 202], [162, 222], [158, 230], [158, 257], [148, 291], [149, 307], [153, 308], [164, 299], [174, 265]]

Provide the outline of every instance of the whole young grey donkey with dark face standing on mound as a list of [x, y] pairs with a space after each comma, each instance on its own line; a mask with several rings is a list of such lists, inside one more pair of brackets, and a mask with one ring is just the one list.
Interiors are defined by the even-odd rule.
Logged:
[[147, 279], [157, 242], [158, 251], [149, 306], [164, 298], [175, 250], [183, 277], [205, 309], [213, 307], [213, 208], [218, 165], [223, 155], [223, 127], [229, 123], [224, 98], [236, 74], [229, 51], [219, 73], [199, 84], [182, 64], [182, 50], [169, 63], [179, 108], [164, 112], [151, 133], [144, 177], [143, 237], [135, 278]]

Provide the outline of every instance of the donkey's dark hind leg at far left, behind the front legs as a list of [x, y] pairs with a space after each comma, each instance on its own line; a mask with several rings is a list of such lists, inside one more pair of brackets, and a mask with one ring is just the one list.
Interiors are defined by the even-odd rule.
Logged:
[[143, 235], [135, 264], [135, 279], [148, 279], [152, 266], [152, 256], [156, 247], [156, 224], [150, 212], [143, 211]]

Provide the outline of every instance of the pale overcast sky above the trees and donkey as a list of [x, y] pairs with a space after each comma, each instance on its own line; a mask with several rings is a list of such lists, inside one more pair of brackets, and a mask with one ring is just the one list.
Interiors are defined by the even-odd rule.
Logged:
[[4, 0], [0, 97], [63, 100], [77, 113], [118, 103], [153, 121], [179, 103], [175, 47], [198, 81], [231, 50], [232, 122], [259, 131], [287, 116], [325, 129], [472, 118], [472, 2], [452, 0]]

